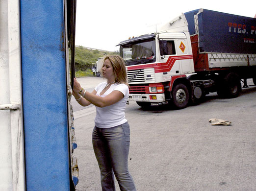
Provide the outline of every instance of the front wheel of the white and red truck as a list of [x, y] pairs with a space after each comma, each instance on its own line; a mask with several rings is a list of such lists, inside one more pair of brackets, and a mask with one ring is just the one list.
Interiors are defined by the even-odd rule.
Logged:
[[172, 91], [172, 103], [177, 109], [187, 107], [189, 100], [188, 89], [184, 84], [178, 84]]

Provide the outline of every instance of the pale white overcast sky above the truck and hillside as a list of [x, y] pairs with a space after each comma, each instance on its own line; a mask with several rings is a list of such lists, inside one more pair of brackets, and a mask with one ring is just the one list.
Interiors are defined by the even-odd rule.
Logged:
[[118, 51], [121, 41], [199, 8], [256, 15], [255, 0], [77, 0], [76, 45]]

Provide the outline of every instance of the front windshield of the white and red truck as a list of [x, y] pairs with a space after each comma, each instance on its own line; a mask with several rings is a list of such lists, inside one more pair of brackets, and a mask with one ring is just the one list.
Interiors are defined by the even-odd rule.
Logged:
[[155, 40], [152, 38], [121, 45], [120, 55], [126, 60], [127, 66], [155, 62]]

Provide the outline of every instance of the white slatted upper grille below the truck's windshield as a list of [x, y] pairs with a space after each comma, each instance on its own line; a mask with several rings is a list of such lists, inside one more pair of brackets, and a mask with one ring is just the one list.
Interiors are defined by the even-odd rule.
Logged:
[[154, 68], [142, 69], [142, 70], [132, 70], [127, 71], [128, 82], [131, 84], [141, 83], [141, 82], [154, 82]]

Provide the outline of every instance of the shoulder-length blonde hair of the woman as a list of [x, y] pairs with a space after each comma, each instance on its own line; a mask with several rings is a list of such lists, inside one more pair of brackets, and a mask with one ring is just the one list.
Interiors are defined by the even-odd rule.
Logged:
[[[121, 56], [118, 56], [118, 55], [105, 55], [103, 57], [103, 63], [107, 59], [111, 62], [112, 66], [113, 66], [115, 82], [128, 85], [125, 60]], [[101, 70], [101, 72], [102, 72], [102, 70]]]

